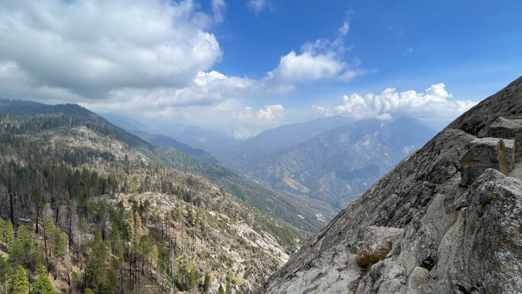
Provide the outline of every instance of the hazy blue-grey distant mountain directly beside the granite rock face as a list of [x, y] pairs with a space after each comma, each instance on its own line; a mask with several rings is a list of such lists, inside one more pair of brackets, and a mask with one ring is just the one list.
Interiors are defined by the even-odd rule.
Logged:
[[412, 118], [361, 120], [271, 154], [251, 175], [342, 208], [433, 135]]

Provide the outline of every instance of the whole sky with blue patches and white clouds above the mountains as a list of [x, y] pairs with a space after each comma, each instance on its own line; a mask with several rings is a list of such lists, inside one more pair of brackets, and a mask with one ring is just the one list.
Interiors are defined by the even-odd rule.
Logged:
[[520, 1], [3, 0], [0, 97], [238, 138], [336, 115], [442, 126], [522, 74], [520, 11]]

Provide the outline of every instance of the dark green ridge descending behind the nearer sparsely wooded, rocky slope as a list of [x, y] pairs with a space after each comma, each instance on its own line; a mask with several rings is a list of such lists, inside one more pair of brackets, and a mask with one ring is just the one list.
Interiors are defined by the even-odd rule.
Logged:
[[74, 123], [85, 124], [90, 129], [132, 146], [152, 161], [160, 161], [179, 171], [203, 176], [250, 205], [308, 233], [317, 232], [326, 220], [335, 216], [336, 210], [325, 202], [272, 190], [253, 183], [226, 167], [169, 147], [151, 144], [76, 104], [46, 105], [33, 101], [0, 99], [0, 110], [7, 115], [63, 114], [70, 118], [71, 126]]

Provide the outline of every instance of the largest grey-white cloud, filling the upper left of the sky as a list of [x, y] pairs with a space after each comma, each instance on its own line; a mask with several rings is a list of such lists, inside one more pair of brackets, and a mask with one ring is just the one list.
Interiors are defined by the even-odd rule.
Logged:
[[[213, 0], [217, 17], [223, 7]], [[16, 64], [34, 92], [98, 99], [127, 87], [183, 87], [221, 58], [211, 22], [192, 0], [7, 1], [0, 62]]]

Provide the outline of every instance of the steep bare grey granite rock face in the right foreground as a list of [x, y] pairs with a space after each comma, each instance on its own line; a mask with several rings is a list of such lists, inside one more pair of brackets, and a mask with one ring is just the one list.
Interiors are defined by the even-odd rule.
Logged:
[[[522, 293], [520, 115], [522, 77], [342, 209], [259, 292]], [[355, 264], [385, 243], [385, 259]]]

